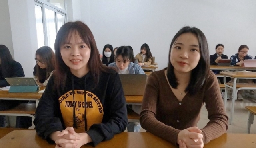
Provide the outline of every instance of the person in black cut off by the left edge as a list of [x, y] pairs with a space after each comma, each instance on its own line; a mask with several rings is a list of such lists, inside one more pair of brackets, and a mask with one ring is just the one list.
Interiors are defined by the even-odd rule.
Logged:
[[[24, 76], [21, 64], [13, 60], [8, 47], [0, 45], [0, 87], [9, 86], [5, 78]], [[0, 111], [16, 107], [19, 103], [26, 101], [0, 100]], [[5, 116], [0, 116], [0, 127], [5, 127]]]

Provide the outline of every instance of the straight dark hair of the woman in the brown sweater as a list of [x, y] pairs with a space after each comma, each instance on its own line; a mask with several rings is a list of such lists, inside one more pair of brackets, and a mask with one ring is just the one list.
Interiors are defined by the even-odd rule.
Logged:
[[192, 73], [190, 76], [190, 82], [185, 90], [185, 92], [188, 92], [191, 95], [194, 95], [197, 90], [200, 90], [203, 87], [206, 77], [210, 70], [208, 43], [204, 33], [200, 29], [186, 26], [180, 29], [178, 33], [176, 33], [170, 45], [169, 56], [168, 56], [169, 58], [168, 58], [167, 78], [172, 88], [177, 88], [178, 82], [174, 74], [174, 67], [170, 62], [170, 55], [171, 55], [172, 46], [177, 41], [178, 37], [180, 37], [180, 35], [184, 33], [192, 33], [196, 35], [196, 37], [198, 38], [198, 44], [200, 48], [200, 55], [201, 55], [200, 60], [197, 66], [192, 70]]

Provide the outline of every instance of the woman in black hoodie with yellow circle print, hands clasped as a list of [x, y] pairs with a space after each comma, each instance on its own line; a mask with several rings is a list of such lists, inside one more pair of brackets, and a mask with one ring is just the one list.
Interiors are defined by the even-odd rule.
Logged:
[[110, 140], [128, 122], [118, 73], [100, 61], [95, 39], [81, 21], [56, 35], [56, 67], [36, 109], [39, 136], [56, 148]]

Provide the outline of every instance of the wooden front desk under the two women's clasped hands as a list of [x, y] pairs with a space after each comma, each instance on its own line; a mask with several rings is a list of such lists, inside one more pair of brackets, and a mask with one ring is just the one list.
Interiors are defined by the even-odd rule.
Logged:
[[[1, 133], [1, 129], [0, 129]], [[40, 138], [36, 131], [14, 130], [0, 139], [3, 148], [55, 148]], [[204, 148], [255, 148], [256, 134], [223, 134], [204, 145]], [[90, 145], [82, 148], [92, 148]], [[177, 148], [149, 132], [122, 132], [96, 148]]]

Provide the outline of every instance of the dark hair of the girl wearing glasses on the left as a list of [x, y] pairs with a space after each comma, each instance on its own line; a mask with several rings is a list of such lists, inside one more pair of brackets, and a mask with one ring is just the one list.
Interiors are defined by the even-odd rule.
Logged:
[[54, 70], [55, 54], [51, 47], [43, 46], [36, 50], [36, 55], [40, 56], [40, 62], [46, 64], [46, 68], [42, 69], [36, 64], [36, 77], [39, 80], [47, 80], [51, 72]]

